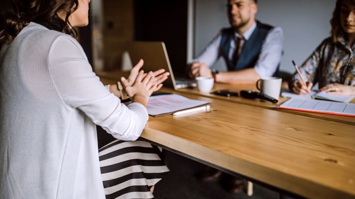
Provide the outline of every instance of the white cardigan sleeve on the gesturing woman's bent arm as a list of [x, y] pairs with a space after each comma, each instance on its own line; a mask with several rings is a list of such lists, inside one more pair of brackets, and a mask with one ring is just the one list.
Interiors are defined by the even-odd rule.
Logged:
[[136, 140], [148, 120], [147, 109], [128, 106], [110, 93], [93, 72], [80, 44], [67, 35], [58, 36], [48, 55], [48, 69], [63, 103], [80, 110], [115, 138]]

